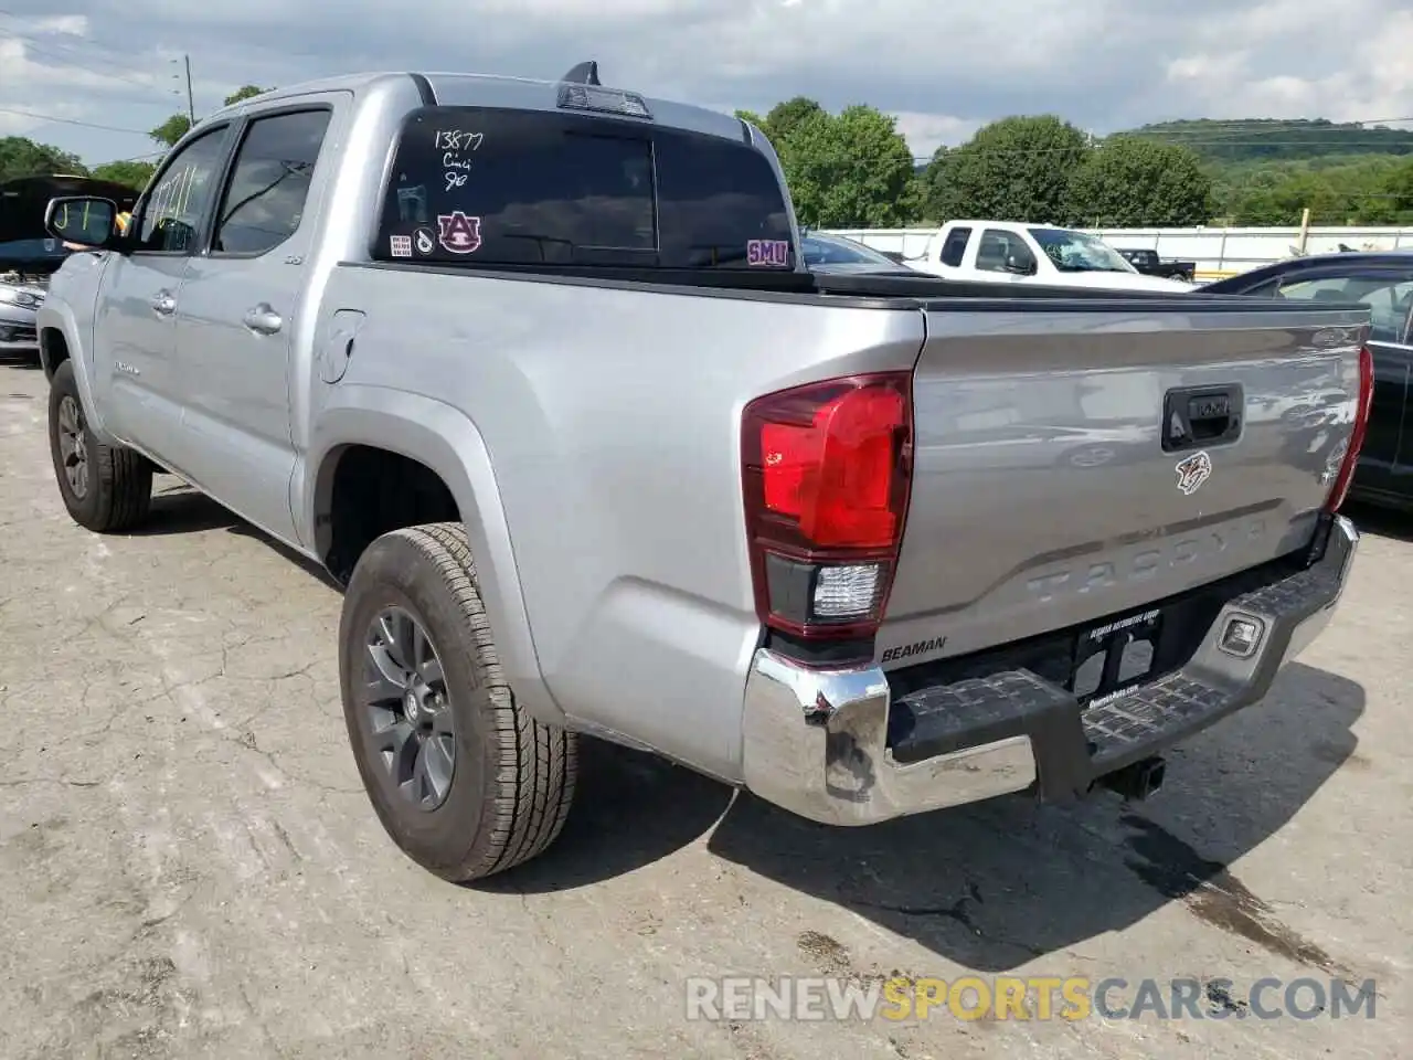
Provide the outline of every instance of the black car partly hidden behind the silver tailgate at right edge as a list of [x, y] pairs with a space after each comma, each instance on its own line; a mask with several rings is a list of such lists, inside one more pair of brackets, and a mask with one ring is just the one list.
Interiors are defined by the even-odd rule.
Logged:
[[1413, 252], [1294, 257], [1207, 284], [1202, 293], [1364, 302], [1372, 315], [1373, 408], [1351, 496], [1413, 509]]

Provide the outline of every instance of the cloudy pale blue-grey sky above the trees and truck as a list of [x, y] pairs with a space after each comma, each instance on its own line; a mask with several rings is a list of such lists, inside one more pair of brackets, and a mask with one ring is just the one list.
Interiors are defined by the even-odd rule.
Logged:
[[[918, 155], [1013, 113], [1403, 119], [1407, 0], [0, 0], [0, 134], [95, 164], [243, 83], [357, 69], [557, 78], [719, 109], [807, 95], [899, 116]], [[179, 95], [178, 95], [179, 93]], [[62, 120], [59, 120], [62, 119]]]

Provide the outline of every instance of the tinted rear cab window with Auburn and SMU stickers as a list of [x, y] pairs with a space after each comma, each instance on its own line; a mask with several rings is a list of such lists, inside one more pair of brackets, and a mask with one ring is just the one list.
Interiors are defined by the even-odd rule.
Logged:
[[745, 141], [561, 112], [424, 107], [373, 259], [487, 269], [793, 273], [776, 172]]

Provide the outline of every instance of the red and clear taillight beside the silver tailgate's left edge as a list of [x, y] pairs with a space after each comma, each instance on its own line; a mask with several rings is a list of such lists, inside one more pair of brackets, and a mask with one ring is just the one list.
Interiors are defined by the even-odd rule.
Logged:
[[781, 390], [746, 406], [742, 478], [756, 611], [801, 637], [876, 632], [911, 479], [911, 375]]

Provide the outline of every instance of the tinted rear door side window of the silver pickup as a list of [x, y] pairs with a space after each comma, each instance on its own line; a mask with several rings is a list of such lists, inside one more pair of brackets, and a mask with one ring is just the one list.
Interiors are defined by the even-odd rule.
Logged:
[[298, 110], [250, 123], [216, 212], [212, 253], [263, 254], [298, 230], [331, 116]]

